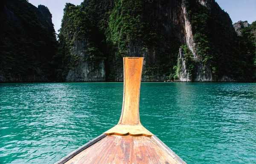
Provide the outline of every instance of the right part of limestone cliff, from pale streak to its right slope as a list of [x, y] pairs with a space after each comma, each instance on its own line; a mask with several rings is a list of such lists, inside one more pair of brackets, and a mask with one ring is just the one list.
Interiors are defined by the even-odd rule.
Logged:
[[[255, 65], [253, 56], [248, 58], [245, 52], [244, 46], [248, 46], [248, 43], [243, 42], [244, 45], [241, 45], [229, 15], [215, 0], [187, 0], [183, 10], [188, 31], [186, 44], [193, 53], [195, 69], [190, 75], [192, 79], [184, 79], [186, 69], [178, 73], [178, 81], [252, 80], [250, 76], [253, 76]], [[253, 48], [250, 48], [250, 53], [253, 54]], [[180, 59], [184, 61], [182, 55], [179, 55], [178, 61]], [[242, 64], [244, 62], [248, 63], [248, 67]], [[185, 64], [183, 62], [183, 67]]]

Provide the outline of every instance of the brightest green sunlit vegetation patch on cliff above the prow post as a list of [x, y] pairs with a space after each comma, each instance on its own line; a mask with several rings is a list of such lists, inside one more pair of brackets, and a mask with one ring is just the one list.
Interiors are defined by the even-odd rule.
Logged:
[[118, 48], [115, 56], [116, 59], [119, 59], [119, 55], [122, 57], [127, 55], [129, 42], [132, 39], [135, 39], [134, 42], [136, 42], [142, 36], [139, 15], [142, 10], [142, 2], [140, 0], [116, 0], [115, 4], [105, 34], [107, 41]]

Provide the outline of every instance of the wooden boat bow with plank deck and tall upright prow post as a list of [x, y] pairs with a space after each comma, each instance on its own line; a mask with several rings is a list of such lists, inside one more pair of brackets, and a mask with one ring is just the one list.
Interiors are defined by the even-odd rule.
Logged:
[[124, 95], [118, 124], [55, 164], [186, 164], [140, 122], [142, 57], [124, 58]]

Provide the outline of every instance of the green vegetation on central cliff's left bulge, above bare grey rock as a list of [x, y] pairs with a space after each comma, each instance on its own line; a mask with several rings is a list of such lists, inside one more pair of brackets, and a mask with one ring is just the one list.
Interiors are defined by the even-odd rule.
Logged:
[[[80, 6], [66, 4], [58, 35], [59, 51], [54, 57], [55, 63], [59, 64], [55, 69], [57, 81], [65, 81], [68, 71], [81, 62], [95, 64], [105, 59], [105, 36], [100, 29], [103, 23], [98, 24], [99, 17], [103, 17], [104, 13], [101, 13], [103, 9], [99, 9], [98, 5], [93, 0], [87, 1], [87, 4], [81, 3]], [[78, 48], [79, 42], [83, 42], [83, 45]], [[78, 53], [76, 49], [81, 51]]]

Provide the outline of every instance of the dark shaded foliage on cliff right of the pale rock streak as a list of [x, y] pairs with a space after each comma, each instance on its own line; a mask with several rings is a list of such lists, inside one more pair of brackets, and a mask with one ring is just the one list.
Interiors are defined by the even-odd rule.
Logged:
[[[209, 12], [197, 1], [187, 3], [198, 54], [202, 62], [209, 62], [216, 79], [233, 76], [238, 80], [251, 80], [255, 72], [252, 34], [238, 37], [235, 31], [229, 30], [228, 25], [232, 25], [229, 15], [214, 4]], [[251, 28], [244, 30], [251, 31]]]

